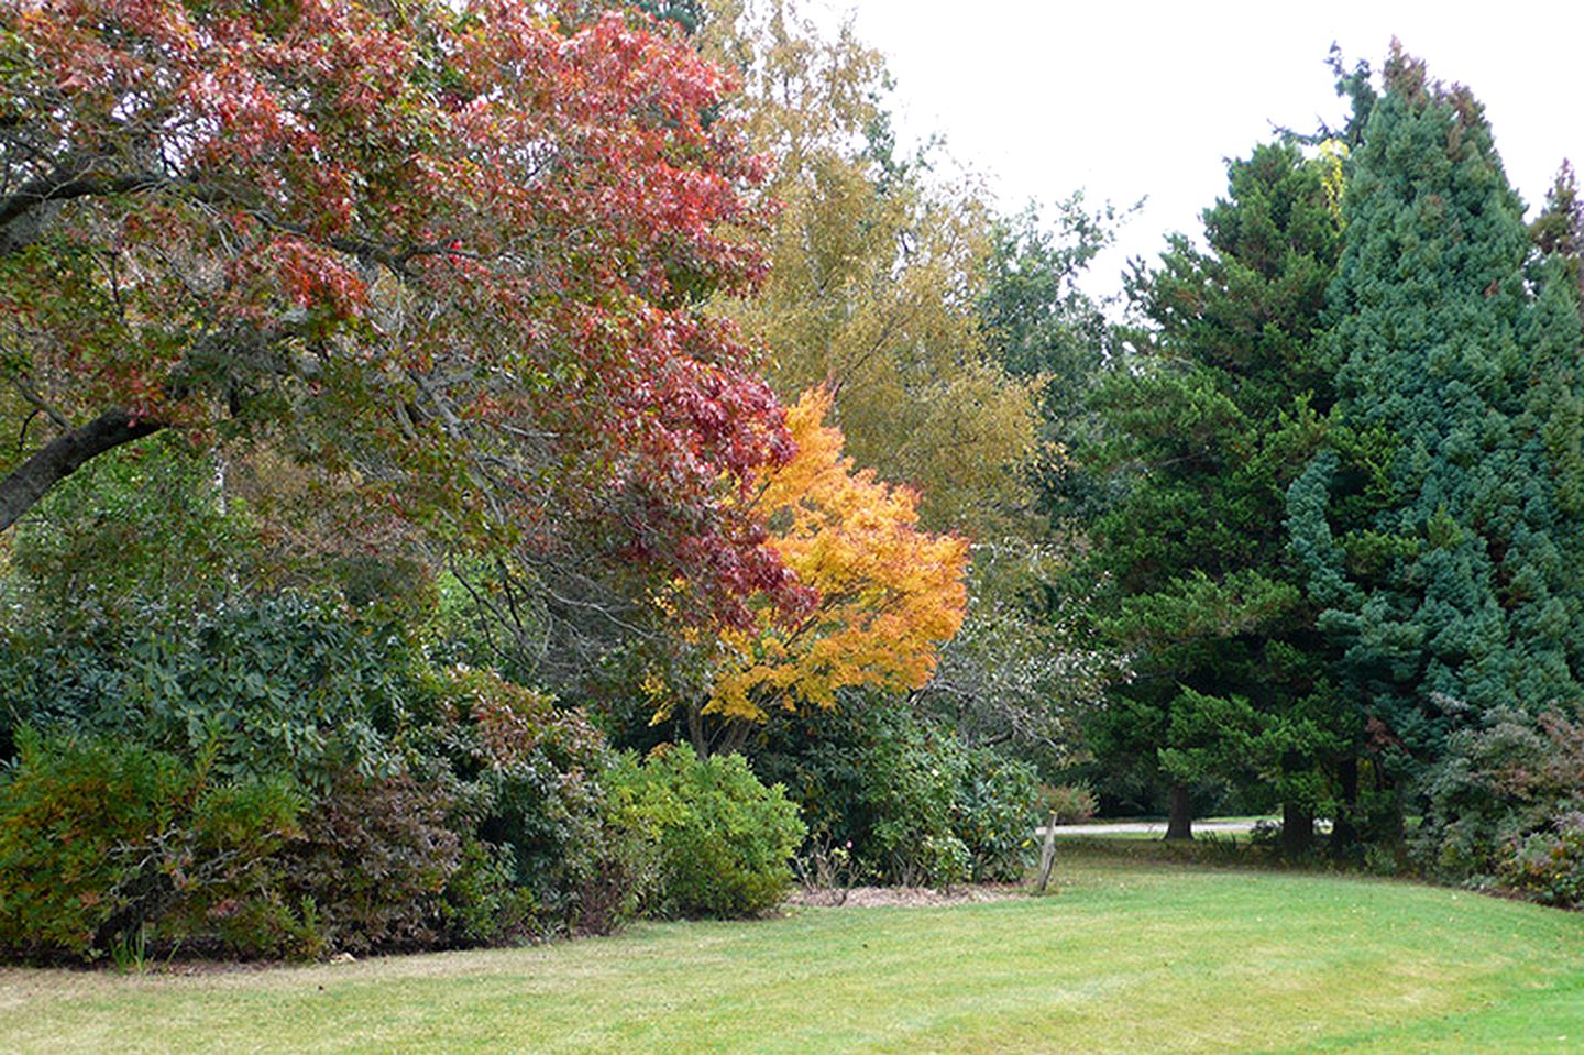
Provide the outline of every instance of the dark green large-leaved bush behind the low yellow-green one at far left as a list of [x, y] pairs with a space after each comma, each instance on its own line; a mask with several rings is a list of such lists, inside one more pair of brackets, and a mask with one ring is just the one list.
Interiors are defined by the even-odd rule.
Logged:
[[290, 773], [323, 789], [348, 765], [390, 765], [412, 665], [396, 627], [329, 599], [284, 594], [196, 616], [150, 604], [138, 621], [0, 635], [0, 726], [212, 751], [228, 776]]

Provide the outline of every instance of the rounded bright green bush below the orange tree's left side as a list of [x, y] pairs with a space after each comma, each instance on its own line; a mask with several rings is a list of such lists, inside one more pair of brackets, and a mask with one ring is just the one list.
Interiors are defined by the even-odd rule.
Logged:
[[741, 756], [665, 745], [642, 765], [627, 756], [613, 778], [616, 816], [659, 847], [661, 914], [752, 916], [786, 897], [806, 828]]

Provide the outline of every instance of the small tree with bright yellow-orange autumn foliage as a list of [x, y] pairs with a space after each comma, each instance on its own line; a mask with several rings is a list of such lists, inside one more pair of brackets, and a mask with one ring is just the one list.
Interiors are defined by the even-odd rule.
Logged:
[[919, 531], [912, 489], [857, 470], [825, 423], [830, 406], [814, 388], [787, 410], [797, 455], [752, 497], [806, 604], [789, 616], [767, 602], [752, 626], [716, 630], [700, 692], [656, 691], [657, 721], [683, 708], [700, 752], [741, 749], [776, 707], [835, 707], [849, 687], [919, 689], [961, 626], [968, 542]]

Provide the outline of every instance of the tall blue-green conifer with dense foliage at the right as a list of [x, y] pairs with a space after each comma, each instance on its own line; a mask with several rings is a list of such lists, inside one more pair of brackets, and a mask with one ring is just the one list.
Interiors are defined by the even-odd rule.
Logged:
[[[1535, 261], [1481, 106], [1394, 44], [1343, 196], [1332, 426], [1293, 551], [1378, 771], [1497, 708], [1579, 699], [1579, 315]], [[1359, 437], [1384, 437], [1364, 444]]]

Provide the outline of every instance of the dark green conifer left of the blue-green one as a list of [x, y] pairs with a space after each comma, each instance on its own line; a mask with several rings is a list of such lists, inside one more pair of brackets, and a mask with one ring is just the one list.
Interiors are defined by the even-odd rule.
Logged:
[[1155, 325], [1099, 394], [1091, 464], [1123, 494], [1093, 537], [1114, 586], [1104, 626], [1134, 676], [1090, 733], [1110, 768], [1172, 787], [1169, 838], [1188, 835], [1190, 784], [1259, 779], [1304, 849], [1346, 741], [1283, 535], [1304, 466], [1293, 423], [1331, 401], [1318, 329], [1338, 252], [1332, 171], [1296, 146], [1234, 162], [1204, 215], [1210, 252], [1177, 238], [1136, 282]]

